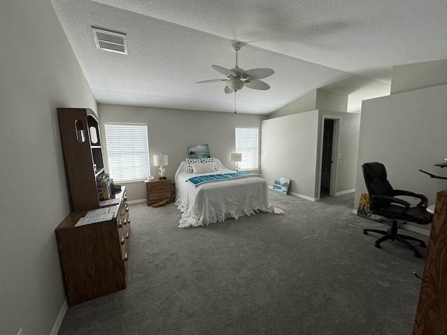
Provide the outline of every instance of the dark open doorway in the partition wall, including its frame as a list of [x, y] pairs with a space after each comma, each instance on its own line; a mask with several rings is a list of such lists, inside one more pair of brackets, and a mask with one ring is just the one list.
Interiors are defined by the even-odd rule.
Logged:
[[339, 119], [323, 118], [320, 197], [335, 195]]

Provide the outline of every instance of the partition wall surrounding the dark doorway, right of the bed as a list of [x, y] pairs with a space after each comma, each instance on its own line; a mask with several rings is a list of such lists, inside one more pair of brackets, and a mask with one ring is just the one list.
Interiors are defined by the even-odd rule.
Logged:
[[262, 122], [261, 172], [272, 186], [277, 177], [291, 179], [289, 192], [318, 199], [323, 118], [339, 119], [337, 186], [335, 193], [351, 191], [356, 184], [360, 115], [312, 110]]

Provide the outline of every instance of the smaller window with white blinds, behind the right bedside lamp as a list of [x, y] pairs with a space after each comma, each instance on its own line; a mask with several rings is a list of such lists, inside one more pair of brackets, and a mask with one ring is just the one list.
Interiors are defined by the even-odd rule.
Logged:
[[236, 127], [236, 152], [242, 154], [241, 170], [258, 169], [258, 128]]

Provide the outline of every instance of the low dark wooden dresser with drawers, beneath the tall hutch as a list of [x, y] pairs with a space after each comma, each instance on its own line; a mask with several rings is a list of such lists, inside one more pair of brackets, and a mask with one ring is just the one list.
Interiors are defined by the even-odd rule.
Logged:
[[56, 228], [71, 306], [126, 288], [131, 234], [126, 189], [123, 187], [115, 197], [119, 200], [118, 210], [111, 220], [75, 227], [87, 214], [87, 211], [80, 211], [67, 216]]

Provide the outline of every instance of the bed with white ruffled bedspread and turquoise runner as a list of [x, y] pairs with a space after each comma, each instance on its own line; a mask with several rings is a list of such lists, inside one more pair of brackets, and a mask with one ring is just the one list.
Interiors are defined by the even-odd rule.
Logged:
[[[225, 168], [219, 159], [208, 158], [214, 169], [192, 171], [189, 160], [182, 161], [175, 172], [177, 191], [175, 204], [182, 212], [179, 228], [198, 227], [223, 222], [226, 218], [239, 218], [257, 212], [282, 214], [268, 202], [268, 184], [259, 174], [244, 174], [231, 179], [201, 181], [194, 185], [189, 179], [207, 179], [228, 174], [237, 174]], [[194, 166], [204, 166], [192, 164]], [[210, 167], [210, 162], [208, 162]], [[202, 172], [207, 170], [206, 172]], [[192, 172], [192, 173], [191, 173]], [[196, 172], [196, 173], [193, 173]]]

